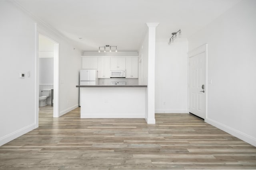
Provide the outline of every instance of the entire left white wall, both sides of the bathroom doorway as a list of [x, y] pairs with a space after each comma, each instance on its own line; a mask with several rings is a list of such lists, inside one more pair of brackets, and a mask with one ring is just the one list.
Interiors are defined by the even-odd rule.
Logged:
[[[0, 145], [36, 128], [36, 25], [32, 17], [14, 5], [0, 1]], [[8, 16], [8, 17], [7, 17]], [[41, 29], [42, 31], [43, 29]], [[50, 31], [42, 31], [54, 37]], [[78, 73], [81, 51], [58, 38], [59, 53], [59, 111], [66, 113], [78, 106]], [[30, 77], [28, 77], [30, 71]], [[18, 78], [20, 72], [25, 78]], [[2, 83], [4, 82], [4, 83]], [[68, 100], [68, 102], [67, 102]], [[15, 106], [15, 107], [14, 107]]]

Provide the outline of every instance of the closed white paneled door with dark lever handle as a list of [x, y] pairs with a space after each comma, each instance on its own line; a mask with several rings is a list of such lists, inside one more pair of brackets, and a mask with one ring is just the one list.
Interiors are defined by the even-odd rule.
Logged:
[[189, 112], [205, 119], [206, 112], [205, 52], [189, 58]]

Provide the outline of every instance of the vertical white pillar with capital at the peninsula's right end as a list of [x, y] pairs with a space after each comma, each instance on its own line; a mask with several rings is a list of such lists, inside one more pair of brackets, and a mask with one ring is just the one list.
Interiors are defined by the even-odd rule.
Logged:
[[148, 124], [156, 124], [155, 120], [155, 55], [156, 55], [156, 27], [159, 23], [147, 23], [148, 25], [148, 89], [146, 121]]

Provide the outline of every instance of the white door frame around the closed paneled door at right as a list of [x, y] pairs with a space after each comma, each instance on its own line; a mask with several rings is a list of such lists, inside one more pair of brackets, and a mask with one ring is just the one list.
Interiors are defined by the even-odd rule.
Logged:
[[204, 98], [204, 103], [205, 103], [205, 107], [204, 107], [204, 121], [207, 119], [207, 98], [208, 98], [208, 44], [204, 44], [204, 45], [201, 45], [195, 49], [192, 49], [190, 51], [188, 51], [188, 113], [190, 113], [190, 110], [189, 110], [189, 106], [190, 106], [190, 84], [189, 84], [189, 80], [190, 80], [190, 72], [189, 72], [189, 65], [190, 65], [190, 58], [191, 57], [194, 57], [195, 55], [198, 55], [198, 54], [201, 54], [201, 53], [204, 53], [204, 64], [205, 64], [205, 87], [204, 87], [204, 90], [205, 90], [205, 98]]

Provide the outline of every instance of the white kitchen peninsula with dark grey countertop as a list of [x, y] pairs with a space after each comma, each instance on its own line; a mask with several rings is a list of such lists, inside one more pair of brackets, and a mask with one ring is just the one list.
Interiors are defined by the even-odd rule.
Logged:
[[146, 85], [80, 85], [81, 118], [145, 118]]

